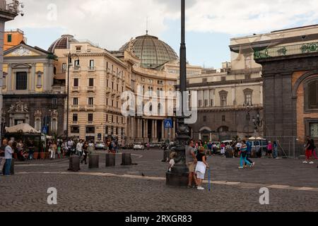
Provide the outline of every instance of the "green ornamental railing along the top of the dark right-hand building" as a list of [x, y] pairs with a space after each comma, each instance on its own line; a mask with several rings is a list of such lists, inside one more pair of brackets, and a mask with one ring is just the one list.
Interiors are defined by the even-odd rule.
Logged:
[[318, 52], [318, 42], [292, 44], [283, 47], [266, 48], [254, 52], [254, 59], [269, 59], [271, 57], [285, 57], [298, 54]]

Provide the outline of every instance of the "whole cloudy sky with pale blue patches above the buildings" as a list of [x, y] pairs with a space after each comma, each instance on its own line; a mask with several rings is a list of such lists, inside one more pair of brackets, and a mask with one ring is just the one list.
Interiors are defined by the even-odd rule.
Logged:
[[[186, 0], [187, 58], [220, 68], [230, 60], [230, 37], [318, 23], [317, 0]], [[6, 23], [28, 44], [47, 49], [63, 34], [116, 50], [146, 33], [179, 53], [179, 0], [23, 0], [25, 15]]]

